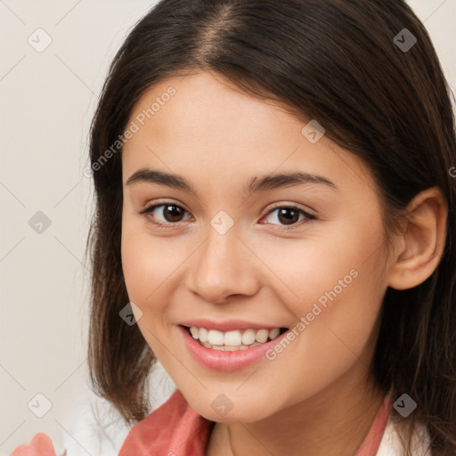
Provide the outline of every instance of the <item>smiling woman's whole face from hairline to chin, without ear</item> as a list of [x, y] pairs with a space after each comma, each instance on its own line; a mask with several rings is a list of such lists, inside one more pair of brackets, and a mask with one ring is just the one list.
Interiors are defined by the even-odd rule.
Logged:
[[[208, 73], [155, 85], [128, 125], [126, 289], [191, 406], [215, 421], [253, 421], [343, 379], [366, 383], [387, 260], [378, 191], [361, 160]], [[140, 169], [180, 178], [134, 177]], [[200, 346], [182, 326], [197, 319], [209, 343], [234, 348]], [[261, 329], [274, 328], [288, 330], [271, 341]]]

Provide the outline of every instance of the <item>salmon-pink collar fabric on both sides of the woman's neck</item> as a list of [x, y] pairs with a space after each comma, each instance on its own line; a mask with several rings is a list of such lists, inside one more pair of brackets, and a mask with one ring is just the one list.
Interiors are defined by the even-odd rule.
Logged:
[[[356, 456], [377, 454], [391, 407], [390, 392]], [[214, 424], [192, 409], [176, 390], [166, 403], [134, 425], [118, 456], [205, 456]]]

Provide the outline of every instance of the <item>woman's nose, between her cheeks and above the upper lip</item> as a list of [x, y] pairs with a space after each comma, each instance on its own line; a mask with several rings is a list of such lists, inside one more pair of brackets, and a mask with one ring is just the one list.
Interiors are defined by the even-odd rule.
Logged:
[[233, 296], [253, 296], [260, 285], [259, 263], [237, 231], [220, 234], [210, 227], [207, 239], [193, 254], [188, 287], [214, 304]]

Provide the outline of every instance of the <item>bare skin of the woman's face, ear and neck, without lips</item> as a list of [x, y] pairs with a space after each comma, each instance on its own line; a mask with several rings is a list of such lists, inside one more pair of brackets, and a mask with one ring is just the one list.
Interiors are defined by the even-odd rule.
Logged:
[[[384, 399], [368, 370], [382, 298], [388, 285], [409, 288], [436, 268], [443, 197], [431, 189], [415, 200], [418, 222], [403, 224], [388, 255], [378, 190], [360, 159], [324, 135], [309, 142], [305, 123], [207, 72], [155, 85], [130, 122], [169, 86], [176, 93], [122, 152], [122, 262], [128, 296], [142, 310], [139, 329], [191, 407], [217, 422], [208, 455], [353, 455]], [[182, 175], [197, 194], [127, 185], [141, 167]], [[255, 176], [296, 171], [338, 190], [307, 183], [242, 192]], [[163, 202], [184, 211], [138, 214]], [[275, 203], [316, 219], [287, 224], [279, 210], [268, 215]], [[210, 224], [221, 210], [234, 223], [223, 235]], [[157, 227], [153, 216], [174, 225]], [[176, 325], [191, 318], [292, 328], [352, 270], [356, 278], [273, 361], [214, 371], [183, 345]], [[224, 417], [211, 406], [220, 394], [232, 402]]]

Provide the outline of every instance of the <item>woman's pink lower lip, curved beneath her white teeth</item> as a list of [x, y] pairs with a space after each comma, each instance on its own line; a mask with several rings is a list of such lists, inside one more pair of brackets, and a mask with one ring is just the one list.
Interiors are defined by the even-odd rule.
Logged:
[[274, 338], [270, 342], [261, 346], [252, 346], [244, 350], [224, 352], [201, 346], [199, 342], [191, 337], [191, 334], [183, 326], [179, 325], [179, 330], [183, 334], [183, 342], [191, 355], [201, 364], [209, 369], [217, 371], [236, 371], [260, 360], [265, 353], [273, 348], [282, 338], [287, 336], [288, 331]]

